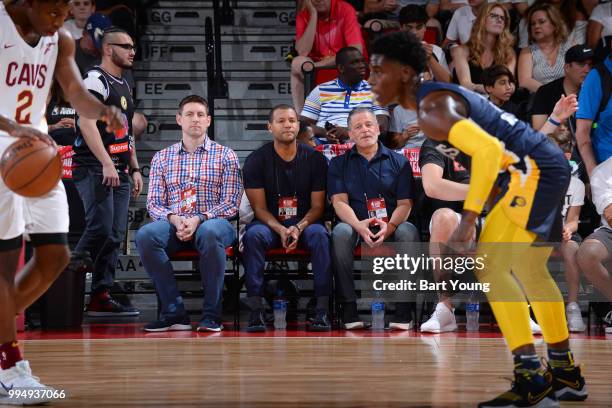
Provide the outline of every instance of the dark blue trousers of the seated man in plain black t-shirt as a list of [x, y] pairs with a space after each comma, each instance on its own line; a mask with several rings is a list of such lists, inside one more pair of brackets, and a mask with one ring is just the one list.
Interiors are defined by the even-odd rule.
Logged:
[[[293, 221], [295, 224], [298, 220]], [[288, 224], [291, 224], [291, 221], [288, 221]], [[247, 226], [242, 243], [247, 296], [263, 296], [266, 251], [281, 247], [280, 236], [267, 225], [254, 221]], [[331, 293], [329, 233], [322, 224], [311, 224], [300, 235], [298, 247], [312, 253], [315, 296], [329, 296]]]

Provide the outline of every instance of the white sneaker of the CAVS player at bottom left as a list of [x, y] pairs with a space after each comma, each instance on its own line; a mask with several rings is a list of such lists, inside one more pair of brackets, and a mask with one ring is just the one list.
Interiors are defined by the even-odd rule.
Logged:
[[0, 370], [0, 405], [44, 404], [57, 399], [57, 394], [54, 388], [41, 384], [32, 375], [30, 364], [25, 360], [8, 370]]

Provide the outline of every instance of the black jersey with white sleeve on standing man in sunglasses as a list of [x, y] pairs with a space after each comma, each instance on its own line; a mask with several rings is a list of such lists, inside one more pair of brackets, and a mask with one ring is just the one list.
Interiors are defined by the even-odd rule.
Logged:
[[[132, 100], [130, 87], [125, 78], [116, 78], [100, 67], [94, 67], [87, 73], [85, 83], [89, 92], [100, 102], [105, 105], [116, 106], [124, 115], [124, 125], [126, 126], [124, 135], [117, 136], [114, 133], [107, 132], [106, 123], [102, 121], [97, 122], [97, 127], [104, 148], [109, 153], [115, 167], [119, 171], [125, 171], [130, 162], [130, 151], [134, 146], [132, 131], [134, 101]], [[80, 129], [77, 130], [73, 150], [75, 167], [102, 167], [102, 164], [87, 146]]]

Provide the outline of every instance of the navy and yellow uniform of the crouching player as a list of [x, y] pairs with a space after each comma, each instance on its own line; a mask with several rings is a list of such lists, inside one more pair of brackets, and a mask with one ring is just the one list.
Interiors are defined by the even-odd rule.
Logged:
[[[569, 164], [561, 150], [514, 115], [458, 85], [425, 82], [417, 92], [417, 103], [435, 91], [460, 96], [468, 111], [467, 118], [500, 142], [503, 154], [498, 185], [502, 192], [497, 200], [505, 215], [541, 239], [556, 238], [560, 232], [560, 207], [570, 176]], [[437, 149], [466, 167], [470, 165], [465, 155], [450, 143], [440, 143]]]

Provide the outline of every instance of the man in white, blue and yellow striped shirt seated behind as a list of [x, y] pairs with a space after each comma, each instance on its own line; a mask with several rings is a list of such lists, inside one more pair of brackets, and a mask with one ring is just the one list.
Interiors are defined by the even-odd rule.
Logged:
[[312, 90], [300, 116], [321, 143], [344, 143], [348, 139], [346, 120], [356, 107], [372, 108], [381, 132], [389, 125], [389, 112], [374, 101], [366, 81], [366, 62], [361, 52], [344, 47], [336, 54], [338, 78], [318, 85]]

